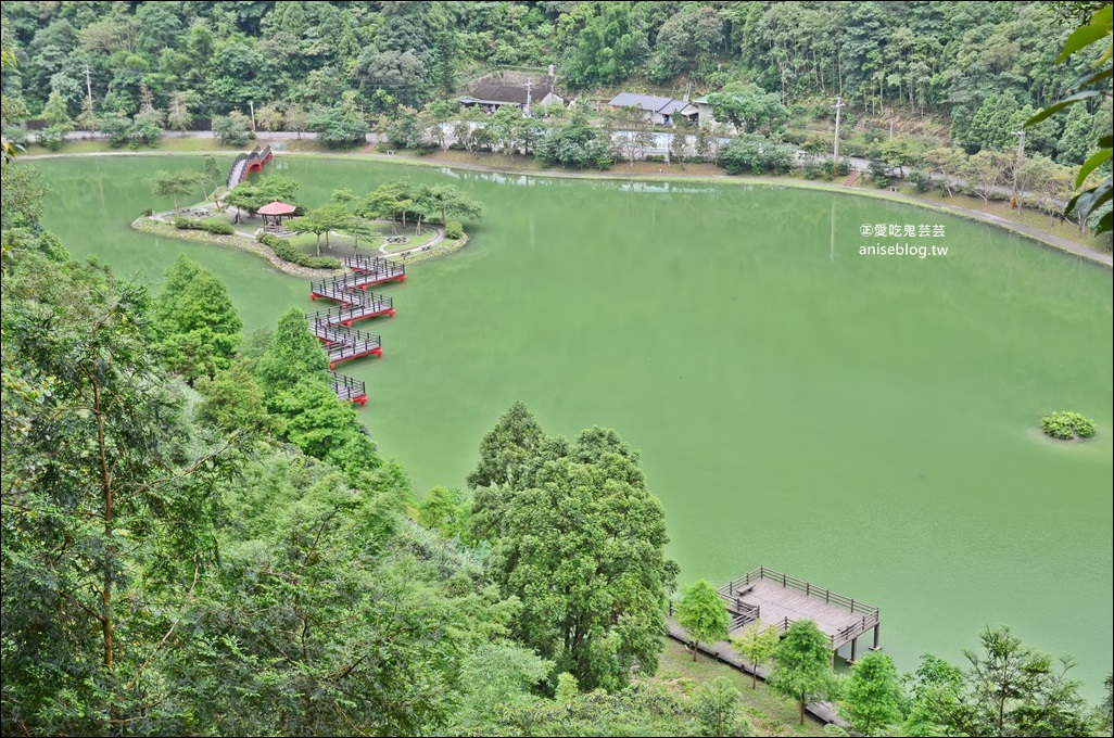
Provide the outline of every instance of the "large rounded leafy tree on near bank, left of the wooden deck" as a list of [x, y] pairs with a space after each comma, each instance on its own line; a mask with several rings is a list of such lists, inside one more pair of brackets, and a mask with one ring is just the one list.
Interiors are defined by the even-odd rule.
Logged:
[[[614, 431], [585, 431], [573, 444], [543, 441], [521, 410], [489, 436], [495, 460], [501, 436], [510, 451], [504, 459], [520, 465], [506, 490], [477, 495], [482, 524], [473, 530], [492, 544], [502, 592], [522, 602], [515, 634], [582, 688], [617, 689], [633, 669], [657, 667], [665, 594], [676, 577], [664, 554], [661, 503]], [[518, 445], [531, 441], [532, 453]], [[489, 469], [510, 471], [498, 461]]]

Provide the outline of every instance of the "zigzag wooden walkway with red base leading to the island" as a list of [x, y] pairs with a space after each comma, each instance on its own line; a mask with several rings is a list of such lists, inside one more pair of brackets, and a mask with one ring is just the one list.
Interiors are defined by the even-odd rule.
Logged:
[[382, 356], [380, 336], [352, 327], [356, 321], [380, 315], [394, 315], [394, 301], [385, 295], [368, 292], [368, 287], [384, 282], [405, 282], [405, 267], [374, 256], [353, 256], [344, 259], [351, 274], [310, 283], [311, 299], [332, 299], [336, 307], [317, 311], [306, 316], [310, 332], [324, 345], [329, 355], [333, 392], [344, 402], [368, 403], [367, 386], [333, 370], [341, 362], [361, 356]]

